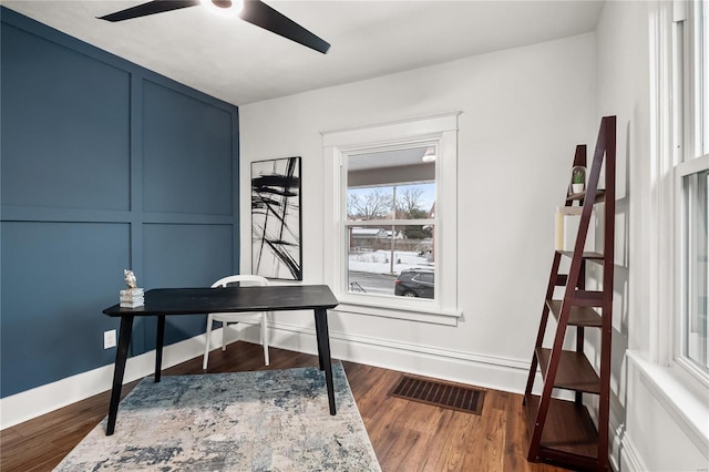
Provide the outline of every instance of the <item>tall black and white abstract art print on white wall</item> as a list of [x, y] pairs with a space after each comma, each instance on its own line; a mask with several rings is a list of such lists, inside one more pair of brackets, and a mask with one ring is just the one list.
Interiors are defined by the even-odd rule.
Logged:
[[300, 157], [251, 163], [251, 270], [302, 280]]

